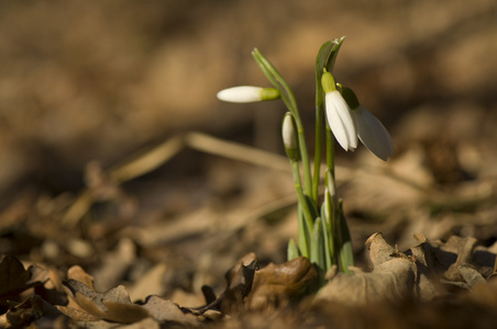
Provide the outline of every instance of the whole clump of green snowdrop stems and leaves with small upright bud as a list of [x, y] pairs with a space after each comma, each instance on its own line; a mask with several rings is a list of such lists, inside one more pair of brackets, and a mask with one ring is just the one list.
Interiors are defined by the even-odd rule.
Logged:
[[[284, 120], [284, 141], [291, 164], [295, 189], [298, 195], [298, 240], [288, 243], [288, 259], [303, 256], [318, 269], [321, 282], [324, 273], [333, 265], [340, 265], [349, 272], [353, 265], [353, 253], [349, 227], [342, 209], [342, 202], [336, 196], [334, 178], [334, 137], [324, 120], [324, 90], [321, 86], [323, 72], [331, 72], [344, 37], [325, 42], [316, 59], [316, 131], [313, 170], [309, 158], [302, 121], [288, 83], [276, 68], [258, 49], [252, 55], [270, 81], [279, 91], [289, 113]], [[323, 133], [323, 127], [325, 133]], [[289, 129], [296, 129], [291, 132]], [[291, 139], [295, 138], [295, 139]], [[322, 145], [325, 141], [324, 147]], [[324, 195], [320, 197], [322, 148], [324, 160]], [[298, 156], [296, 156], [296, 152]], [[302, 178], [303, 177], [303, 182]]]

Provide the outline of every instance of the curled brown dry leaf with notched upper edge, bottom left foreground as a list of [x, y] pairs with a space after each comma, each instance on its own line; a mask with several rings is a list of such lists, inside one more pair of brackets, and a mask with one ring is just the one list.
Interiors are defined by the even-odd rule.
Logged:
[[[86, 284], [69, 279], [64, 282], [67, 294], [88, 314], [106, 320], [131, 324], [148, 317], [148, 313], [130, 300], [124, 286], [97, 293]], [[58, 308], [64, 311], [64, 308]], [[66, 314], [68, 315], [68, 314]]]

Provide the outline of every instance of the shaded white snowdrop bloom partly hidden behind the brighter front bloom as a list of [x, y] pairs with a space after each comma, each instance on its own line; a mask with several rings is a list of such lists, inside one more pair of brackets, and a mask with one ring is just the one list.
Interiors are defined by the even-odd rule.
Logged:
[[394, 152], [390, 134], [376, 116], [360, 104], [352, 89], [343, 87], [342, 95], [352, 109], [358, 139], [376, 157], [386, 161]]

